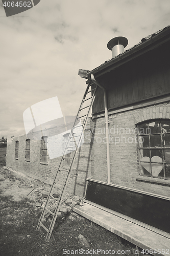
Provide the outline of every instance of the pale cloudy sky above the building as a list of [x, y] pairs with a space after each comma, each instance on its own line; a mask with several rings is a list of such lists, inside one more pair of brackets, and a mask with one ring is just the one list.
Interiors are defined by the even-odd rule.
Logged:
[[128, 49], [169, 24], [169, 0], [41, 0], [10, 17], [1, 1], [0, 138], [25, 134], [23, 112], [54, 96], [63, 115], [76, 115], [79, 69], [110, 59], [111, 38], [127, 37]]

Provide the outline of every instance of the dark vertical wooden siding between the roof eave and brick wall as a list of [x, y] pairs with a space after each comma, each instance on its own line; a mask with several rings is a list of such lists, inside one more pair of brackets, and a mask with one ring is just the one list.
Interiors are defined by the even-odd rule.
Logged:
[[[170, 93], [169, 42], [103, 75], [108, 108], [133, 104]], [[93, 113], [104, 111], [103, 91], [98, 90]]]

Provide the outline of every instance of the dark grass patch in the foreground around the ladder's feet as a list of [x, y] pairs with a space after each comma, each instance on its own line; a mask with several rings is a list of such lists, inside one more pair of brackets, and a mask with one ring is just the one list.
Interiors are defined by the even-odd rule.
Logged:
[[[75, 216], [74, 220], [71, 220], [68, 215], [64, 220], [57, 220], [50, 241], [45, 242], [46, 231], [36, 230], [41, 211], [32, 204], [34, 202], [28, 203], [28, 199], [17, 202], [12, 200], [12, 196], [1, 194], [0, 200], [1, 256], [61, 256], [64, 255], [63, 249], [69, 250], [71, 254], [71, 250], [82, 248], [78, 239], [79, 234], [87, 239], [94, 250], [101, 248], [117, 251], [134, 248], [133, 245], [101, 226], [83, 217]], [[103, 254], [98, 253], [98, 255]], [[125, 253], [119, 255], [125, 255]]]

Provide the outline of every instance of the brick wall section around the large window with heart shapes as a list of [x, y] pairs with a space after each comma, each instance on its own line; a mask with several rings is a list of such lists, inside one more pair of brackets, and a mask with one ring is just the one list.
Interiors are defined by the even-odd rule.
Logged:
[[[109, 115], [111, 183], [170, 198], [170, 180], [151, 177], [147, 181], [136, 180], [139, 166], [135, 124], [155, 118], [170, 119], [170, 103]], [[88, 178], [107, 182], [105, 118], [94, 119], [93, 125], [95, 135]]]

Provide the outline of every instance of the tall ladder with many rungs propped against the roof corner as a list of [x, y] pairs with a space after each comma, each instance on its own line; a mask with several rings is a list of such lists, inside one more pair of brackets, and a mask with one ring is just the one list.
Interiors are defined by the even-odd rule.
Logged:
[[[82, 141], [82, 138], [83, 138], [83, 133], [85, 131], [85, 127], [86, 127], [86, 124], [87, 124], [87, 121], [88, 121], [90, 108], [91, 108], [91, 106], [94, 102], [94, 99], [95, 99], [95, 92], [96, 92], [98, 86], [94, 85], [94, 88], [92, 89], [92, 87], [91, 87], [92, 85], [93, 85], [93, 83], [90, 84], [90, 82], [89, 82], [88, 86], [86, 88], [86, 91], [84, 93], [83, 100], [80, 104], [80, 108], [79, 108], [78, 114], [76, 116], [74, 125], [72, 126], [71, 132], [69, 134], [69, 137], [68, 137], [65, 149], [64, 149], [63, 156], [61, 158], [56, 176], [54, 178], [54, 182], [51, 186], [50, 193], [47, 196], [45, 206], [42, 210], [42, 214], [41, 214], [41, 217], [39, 219], [39, 222], [38, 222], [38, 225], [37, 225], [37, 228], [36, 228], [36, 229], [39, 229], [40, 227], [42, 227], [43, 229], [45, 229], [47, 231], [47, 235], [46, 235], [46, 238], [45, 238], [46, 241], [48, 241], [51, 237], [51, 234], [52, 234], [52, 231], [53, 231], [53, 228], [54, 228], [54, 224], [56, 222], [56, 218], [57, 218], [57, 215], [58, 215], [58, 212], [59, 212], [59, 209], [60, 209], [60, 205], [62, 203], [64, 192], [65, 192], [68, 180], [69, 180], [70, 172], [71, 172], [71, 169], [72, 169], [72, 167], [74, 165], [74, 162], [75, 162], [76, 153], [77, 153], [78, 148], [81, 145], [81, 141]], [[91, 96], [88, 96], [90, 92], [91, 92]], [[83, 112], [85, 111], [85, 115], [80, 116], [81, 111], [83, 111]], [[79, 124], [79, 123], [81, 123], [81, 121], [80, 121], [81, 118], [84, 118], [83, 124]], [[79, 120], [79, 123], [78, 123], [78, 120]], [[77, 123], [78, 123], [78, 125], [76, 125]], [[80, 132], [80, 134], [75, 135], [76, 134], [75, 132], [76, 132], [76, 130], [79, 126], [81, 126], [81, 132]], [[74, 146], [72, 145], [73, 142], [75, 144]], [[72, 154], [72, 157], [66, 157], [65, 155], [68, 154], [68, 152], [70, 152], [70, 150], [72, 150], [73, 148], [74, 148], [74, 153]], [[67, 169], [62, 169], [62, 164], [63, 164], [64, 159], [70, 159], [70, 164], [69, 164]], [[67, 174], [66, 174], [66, 178], [65, 178], [63, 187], [61, 189], [60, 197], [58, 198], [58, 201], [57, 201], [56, 208], [55, 208], [54, 212], [52, 212], [47, 207], [48, 207], [48, 203], [50, 202], [51, 199], [56, 200], [53, 197], [53, 190], [54, 190], [54, 187], [55, 187], [55, 184], [56, 184], [57, 175], [58, 175], [59, 172], [62, 172], [62, 171], [67, 172]], [[50, 223], [50, 226], [48, 228], [43, 225], [43, 219], [44, 219], [44, 216], [45, 216], [46, 212], [50, 213], [53, 216], [53, 218], [51, 220], [51, 223]]]

